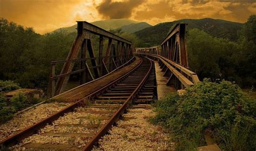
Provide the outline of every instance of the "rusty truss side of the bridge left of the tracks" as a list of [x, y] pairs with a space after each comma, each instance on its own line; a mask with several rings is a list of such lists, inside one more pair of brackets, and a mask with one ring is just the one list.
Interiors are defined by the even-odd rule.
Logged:
[[[51, 62], [49, 97], [63, 92], [72, 74], [80, 74], [80, 84], [84, 84], [110, 73], [132, 58], [132, 50], [131, 41], [86, 21], [77, 21], [77, 36], [68, 57]], [[61, 63], [62, 70], [56, 75]]]

